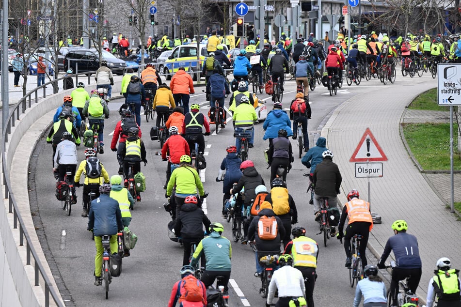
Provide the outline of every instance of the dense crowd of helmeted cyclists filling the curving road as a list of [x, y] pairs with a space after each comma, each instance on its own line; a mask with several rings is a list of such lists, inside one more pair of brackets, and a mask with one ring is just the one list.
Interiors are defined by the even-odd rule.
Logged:
[[[350, 63], [354, 69], [357, 69], [360, 63], [373, 61], [381, 65], [393, 64], [397, 62], [395, 59], [399, 54], [403, 59], [408, 56], [421, 59], [430, 55], [439, 62], [444, 60], [443, 57], [456, 62], [461, 59], [461, 46], [456, 35], [453, 36], [453, 43], [446, 54], [446, 46], [441, 47], [439, 36], [433, 39], [427, 35], [411, 33], [407, 33], [407, 36], [405, 39], [399, 37], [392, 42], [385, 33], [378, 37], [372, 32], [369, 37], [361, 35], [347, 42], [342, 35], [326, 50], [322, 42], [317, 41], [313, 35], [305, 41], [299, 38], [295, 44], [289, 39], [288, 44], [282, 39], [278, 44], [275, 44], [275, 41], [271, 44], [265, 43], [262, 50], [251, 40], [249, 46], [240, 50], [233, 63], [227, 63], [227, 58], [219, 56], [219, 42], [215, 45], [208, 43], [207, 51], [211, 61], [204, 61], [203, 64], [203, 74], [207, 82], [207, 102], [209, 101], [211, 106], [208, 115], [200, 112], [200, 105], [197, 103], [192, 103], [189, 107], [194, 87], [190, 75], [185, 73], [184, 69], [179, 69], [173, 76], [170, 86], [161, 82], [159, 73], [151, 64], [143, 70], [141, 78], [129, 71], [122, 80], [121, 93], [125, 97], [125, 102], [119, 109], [121, 119], [116, 124], [111, 140], [111, 150], [116, 152], [119, 169], [118, 174], [111, 177], [97, 157], [97, 154], [104, 154], [104, 120], [110, 115], [108, 103], [113, 85], [107, 62], [102, 62], [95, 77], [98, 89], [88, 93], [85, 85], [79, 82], [77, 89], [71, 95], [66, 95], [63, 106], [57, 109], [54, 124], [47, 138], [47, 142], [52, 144], [53, 171], [58, 181], [63, 181], [64, 174], [69, 169], [75, 187], [80, 186], [80, 179], [83, 177], [81, 215], [89, 217], [88, 230], [93, 231], [95, 238], [95, 285], [101, 285], [101, 235], [111, 235], [111, 251], [115, 253], [117, 233], [129, 225], [130, 210], [134, 208], [136, 201], [141, 201], [139, 192], [132, 195], [127, 190], [130, 172], [128, 168], [133, 165], [136, 175], [141, 171], [141, 162], [144, 162], [146, 167], [146, 146], [140, 128], [141, 108], [152, 107], [158, 117], [151, 129], [151, 138], [158, 133], [161, 122], [168, 130], [168, 138], [161, 149], [162, 161], [168, 161], [163, 188], [165, 197], [172, 204], [175, 234], [180, 237], [184, 246], [181, 280], [175, 284], [168, 306], [176, 306], [176, 303], [181, 303], [181, 306], [185, 307], [198, 306], [188, 305], [187, 302], [190, 300], [199, 301], [202, 304], [200, 306], [206, 306], [207, 288], [215, 279], [218, 280], [218, 286], [223, 286], [223, 296], [228, 297], [232, 247], [229, 240], [222, 235], [223, 225], [211, 222], [201, 209], [207, 192], [196, 165], [192, 164], [192, 157], [203, 159], [203, 163], [206, 163], [203, 156], [204, 135], [210, 135], [210, 123], [214, 123], [218, 116], [223, 117], [221, 129], [229, 124], [224, 105], [225, 97], [230, 95], [227, 109], [232, 113], [234, 138], [236, 135], [237, 138], [235, 145], [226, 148], [226, 156], [216, 178], [216, 181], [223, 181], [222, 215], [225, 218], [230, 210], [241, 211], [244, 233], [241, 244], [252, 244], [256, 249], [254, 276], [263, 277], [262, 257], [270, 257], [274, 252], [278, 255], [278, 259], [275, 260], [278, 269], [273, 272], [269, 284], [267, 305], [273, 304], [277, 293], [279, 299], [275, 306], [314, 306], [318, 244], [306, 235], [304, 227], [292, 226], [298, 223], [298, 210], [287, 187], [287, 173], [294, 161], [289, 137], [298, 138], [296, 128], [298, 123], [301, 123], [305, 152], [301, 162], [310, 169], [309, 180], [313, 188], [309, 202], [314, 205], [312, 218], [319, 222], [322, 201], [326, 200], [330, 208], [337, 207], [342, 177], [339, 168], [333, 162], [333, 152], [325, 147], [325, 138], [320, 137], [316, 146], [309, 146], [307, 121], [311, 117], [308, 95], [310, 79], [318, 77], [319, 68], [323, 65], [326, 67], [327, 75], [337, 75], [341, 79], [345, 63]], [[409, 45], [408, 51], [406, 45]], [[435, 54], [436, 50], [440, 53]], [[254, 56], [259, 56], [259, 59], [255, 59]], [[291, 59], [293, 63], [290, 63]], [[222, 65], [226, 63], [231, 64], [233, 68], [235, 82], [228, 82], [225, 77]], [[297, 93], [292, 97], [289, 114], [283, 109], [282, 102], [273, 100], [273, 109], [263, 124], [263, 139], [269, 139], [266, 154], [270, 167], [270, 182], [267, 186], [254, 162], [241, 155], [242, 141], [238, 136], [242, 131], [250, 131], [248, 148], [254, 147], [254, 122], [257, 120], [254, 95], [249, 91], [248, 81], [251, 75], [257, 76], [259, 89], [266, 80], [271, 79], [272, 82], [280, 84], [280, 90], [283, 92], [284, 80], [286, 74], [290, 73], [290, 66], [293, 68], [292, 74], [298, 87]], [[101, 92], [100, 88], [106, 91]], [[150, 100], [146, 100], [146, 89], [149, 89]], [[215, 101], [219, 105], [218, 109], [215, 109]], [[148, 105], [149, 102], [151, 106]], [[82, 132], [90, 128], [95, 128], [92, 136], [97, 137], [98, 146], [88, 146], [85, 142], [85, 134]], [[82, 143], [87, 147], [84, 149], [85, 159], [77, 168], [77, 147]], [[195, 147], [198, 151], [196, 155], [192, 154]], [[75, 190], [73, 192], [72, 202], [75, 204], [77, 196]], [[92, 192], [94, 198], [91, 198]], [[230, 206], [232, 199], [235, 200], [234, 205]], [[387, 241], [380, 261], [377, 265], [367, 264], [366, 243], [373, 228], [370, 206], [368, 202], [359, 198], [357, 190], [351, 190], [347, 200], [342, 214], [338, 216], [338, 223], [330, 225], [330, 234], [332, 237], [345, 240], [346, 267], [351, 266], [351, 238], [354, 235], [362, 237], [360, 254], [365, 278], [357, 284], [353, 304], [359, 306], [363, 296], [364, 306], [387, 306], [386, 287], [378, 276], [378, 269], [386, 268], [385, 261], [393, 251], [397, 267], [392, 271], [389, 297], [392, 300], [391, 304], [397, 306], [399, 280], [408, 277], [408, 286], [413, 293], [419, 285], [422, 271], [416, 237], [407, 233], [408, 225], [404, 220], [395, 221], [392, 224], [395, 235]], [[192, 243], [196, 244], [195, 250], [191, 249]], [[189, 295], [184, 285], [189, 285], [191, 279], [196, 278], [199, 259], [202, 267], [201, 282], [195, 282], [195, 291], [189, 291], [194, 295]], [[461, 306], [459, 271], [451, 268], [451, 262], [447, 258], [441, 258], [436, 266], [435, 276], [429, 283], [428, 306], [432, 306], [436, 296], [439, 307]], [[223, 306], [228, 306], [227, 298], [223, 301]]]

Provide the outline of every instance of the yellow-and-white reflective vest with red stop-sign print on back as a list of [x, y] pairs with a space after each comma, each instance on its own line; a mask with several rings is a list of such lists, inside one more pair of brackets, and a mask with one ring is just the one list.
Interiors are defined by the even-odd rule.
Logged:
[[298, 237], [293, 239], [291, 255], [293, 255], [293, 266], [317, 267], [317, 242], [308, 237]]

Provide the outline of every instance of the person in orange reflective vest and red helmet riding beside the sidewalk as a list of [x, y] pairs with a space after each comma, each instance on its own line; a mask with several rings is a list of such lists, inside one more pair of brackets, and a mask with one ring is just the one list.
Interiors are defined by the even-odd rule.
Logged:
[[[344, 223], [346, 217], [349, 219], [346, 233], [343, 234]], [[346, 267], [350, 268], [351, 255], [350, 255], [350, 239], [355, 235], [362, 236], [362, 242], [360, 243], [360, 258], [362, 259], [362, 265], [365, 267], [366, 261], [366, 244], [368, 243], [368, 235], [373, 229], [373, 218], [370, 212], [370, 203], [359, 199], [359, 191], [351, 190], [348, 194], [348, 202], [344, 204], [343, 213], [339, 219], [338, 225], [338, 236], [337, 239], [344, 237], [344, 249], [346, 250]]]

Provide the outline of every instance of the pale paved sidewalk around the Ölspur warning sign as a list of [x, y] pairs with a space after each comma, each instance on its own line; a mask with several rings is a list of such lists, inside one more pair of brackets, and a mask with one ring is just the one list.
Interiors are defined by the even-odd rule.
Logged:
[[[339, 195], [343, 203], [345, 195], [353, 188], [367, 199], [367, 179], [355, 178], [354, 163], [349, 162], [367, 127], [387, 155], [388, 161], [383, 162], [383, 177], [371, 179], [371, 208], [382, 216], [382, 224], [371, 231], [369, 245], [379, 258], [387, 239], [393, 235], [392, 223], [397, 219], [407, 221], [408, 232], [418, 238], [423, 262], [417, 291], [422, 301], [426, 301], [429, 279], [440, 257], [450, 258], [455, 268], [461, 267], [461, 246], [456, 244], [459, 242], [461, 222], [449, 213], [445, 208], [446, 201], [439, 197], [446, 198], [446, 191], [441, 187], [449, 191], [449, 177], [420, 173], [402, 142], [399, 130], [405, 107], [419, 93], [435, 85], [434, 80], [421, 78], [355, 96], [334, 111], [322, 131], [343, 177], [342, 193]], [[427, 178], [433, 179], [429, 181]], [[435, 192], [432, 182], [441, 190]]]

